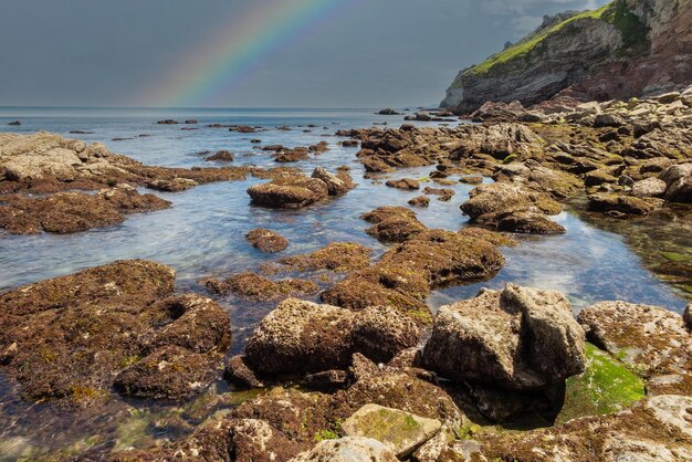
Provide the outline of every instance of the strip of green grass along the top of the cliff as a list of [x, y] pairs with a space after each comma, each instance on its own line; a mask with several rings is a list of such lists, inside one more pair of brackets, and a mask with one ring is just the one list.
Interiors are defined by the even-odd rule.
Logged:
[[[514, 60], [526, 59], [532, 52], [539, 50], [539, 46], [547, 36], [569, 25], [578, 28], [575, 23], [586, 19], [602, 20], [614, 24], [622, 34], [623, 54], [639, 54], [644, 52], [648, 48], [647, 35], [649, 31], [646, 25], [639, 21], [637, 15], [629, 11], [623, 0], [615, 0], [597, 10], [585, 11], [558, 24], [534, 32], [506, 50], [493, 54], [483, 63], [471, 67], [463, 75], [473, 74], [476, 76], [483, 76], [496, 70], [496, 66], [501, 64], [505, 64]], [[455, 87], [461, 87], [461, 78], [458, 78], [452, 84], [452, 88]]]

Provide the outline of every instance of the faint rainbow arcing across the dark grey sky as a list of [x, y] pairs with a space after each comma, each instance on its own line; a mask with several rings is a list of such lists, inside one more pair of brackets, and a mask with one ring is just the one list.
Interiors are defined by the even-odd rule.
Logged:
[[[273, 53], [336, 18], [358, 0], [274, 0], [238, 9], [211, 40], [189, 50], [137, 97], [137, 106], [228, 104], [230, 92]], [[249, 2], [254, 3], [254, 2]], [[271, 3], [271, 6], [270, 6]]]

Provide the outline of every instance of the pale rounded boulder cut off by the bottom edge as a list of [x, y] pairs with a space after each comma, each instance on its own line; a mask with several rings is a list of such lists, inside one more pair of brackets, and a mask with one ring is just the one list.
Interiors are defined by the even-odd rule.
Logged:
[[397, 462], [391, 450], [370, 438], [347, 437], [325, 440], [289, 462]]

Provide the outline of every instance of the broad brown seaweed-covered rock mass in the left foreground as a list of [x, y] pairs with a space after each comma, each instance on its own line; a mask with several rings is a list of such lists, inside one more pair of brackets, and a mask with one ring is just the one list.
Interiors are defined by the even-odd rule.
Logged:
[[174, 282], [168, 266], [122, 261], [6, 292], [3, 370], [30, 400], [87, 406], [114, 379], [125, 395], [189, 398], [220, 366], [230, 319], [208, 298], [172, 296]]

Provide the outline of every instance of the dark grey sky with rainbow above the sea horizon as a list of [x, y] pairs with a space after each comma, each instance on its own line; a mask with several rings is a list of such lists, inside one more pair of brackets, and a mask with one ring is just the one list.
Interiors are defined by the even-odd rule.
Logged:
[[402, 107], [606, 0], [0, 0], [0, 106]]

